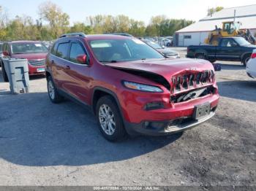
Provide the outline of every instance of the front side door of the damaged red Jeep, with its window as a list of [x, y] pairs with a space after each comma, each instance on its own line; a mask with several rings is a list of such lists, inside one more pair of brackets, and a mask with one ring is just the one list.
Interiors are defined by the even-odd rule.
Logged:
[[[78, 56], [86, 55], [87, 62], [80, 63]], [[89, 103], [89, 55], [86, 51], [86, 47], [83, 42], [79, 40], [72, 40], [70, 42], [69, 56], [67, 65], [64, 69], [64, 81], [63, 87], [73, 97], [82, 101], [83, 103]]]

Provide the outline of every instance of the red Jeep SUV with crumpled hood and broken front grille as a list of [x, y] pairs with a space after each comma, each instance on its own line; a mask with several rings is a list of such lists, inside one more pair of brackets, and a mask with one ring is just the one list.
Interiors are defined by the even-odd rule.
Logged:
[[110, 141], [187, 130], [213, 117], [219, 101], [211, 63], [165, 58], [133, 37], [65, 34], [45, 63], [50, 101], [90, 106]]

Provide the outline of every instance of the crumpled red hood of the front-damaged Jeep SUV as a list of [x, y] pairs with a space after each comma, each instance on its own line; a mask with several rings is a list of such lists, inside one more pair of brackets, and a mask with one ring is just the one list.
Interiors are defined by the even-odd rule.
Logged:
[[206, 71], [213, 70], [212, 64], [205, 60], [194, 60], [190, 58], [183, 59], [148, 59], [146, 61], [129, 61], [122, 63], [108, 63], [116, 69], [131, 69], [135, 71], [146, 71], [149, 73], [159, 74], [170, 82], [171, 77], [177, 74], [184, 74], [187, 71]]

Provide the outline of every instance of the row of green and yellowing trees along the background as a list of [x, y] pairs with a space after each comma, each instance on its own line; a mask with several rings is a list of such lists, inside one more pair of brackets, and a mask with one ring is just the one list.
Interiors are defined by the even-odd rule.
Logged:
[[192, 20], [170, 19], [165, 15], [151, 17], [146, 25], [126, 15], [94, 15], [85, 22], [70, 26], [69, 15], [50, 1], [38, 7], [39, 18], [17, 15], [10, 19], [0, 6], [0, 41], [4, 40], [53, 40], [61, 34], [83, 32], [85, 34], [129, 33], [134, 36], [172, 36], [175, 31], [194, 23]]

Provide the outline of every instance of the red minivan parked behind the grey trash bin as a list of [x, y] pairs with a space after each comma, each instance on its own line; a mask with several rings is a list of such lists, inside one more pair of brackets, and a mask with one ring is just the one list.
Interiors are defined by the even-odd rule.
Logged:
[[[2, 47], [2, 58], [26, 58], [29, 63], [29, 75], [37, 75], [45, 72], [45, 57], [48, 49], [41, 42], [35, 41], [12, 41], [4, 42]], [[4, 82], [8, 77], [0, 58]]]

